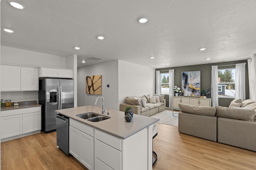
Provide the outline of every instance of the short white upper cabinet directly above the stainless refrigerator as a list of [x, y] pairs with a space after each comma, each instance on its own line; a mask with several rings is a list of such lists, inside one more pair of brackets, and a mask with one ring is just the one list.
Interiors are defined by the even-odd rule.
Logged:
[[73, 78], [73, 70], [66, 68], [38, 67], [39, 77]]

